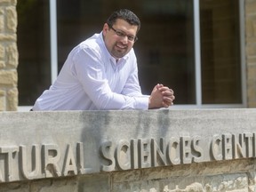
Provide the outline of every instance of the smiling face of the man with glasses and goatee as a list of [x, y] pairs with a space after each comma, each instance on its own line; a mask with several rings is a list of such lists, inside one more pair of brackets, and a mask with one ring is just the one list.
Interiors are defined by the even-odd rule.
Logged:
[[113, 26], [107, 23], [103, 27], [104, 42], [108, 52], [116, 59], [124, 57], [130, 52], [137, 33], [138, 26], [130, 25], [125, 20], [116, 20]]

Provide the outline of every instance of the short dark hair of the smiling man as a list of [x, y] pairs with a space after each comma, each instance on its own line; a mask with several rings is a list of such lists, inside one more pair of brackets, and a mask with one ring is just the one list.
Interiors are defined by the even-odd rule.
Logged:
[[137, 33], [140, 30], [140, 20], [133, 12], [127, 9], [120, 9], [113, 12], [107, 20], [108, 26], [113, 26], [117, 19], [125, 20], [130, 25], [138, 26]]

